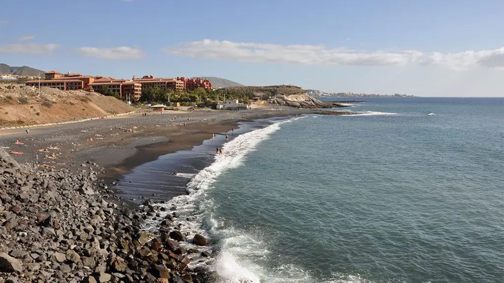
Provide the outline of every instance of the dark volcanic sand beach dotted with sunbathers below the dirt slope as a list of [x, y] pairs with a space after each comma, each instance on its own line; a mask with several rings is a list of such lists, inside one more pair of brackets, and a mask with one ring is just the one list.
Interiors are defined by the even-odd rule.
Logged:
[[[19, 163], [46, 168], [101, 172], [106, 180], [159, 156], [191, 149], [203, 140], [236, 127], [239, 121], [312, 113], [309, 109], [243, 111], [165, 111], [74, 124], [0, 131], [0, 146]], [[185, 125], [184, 125], [185, 124]], [[16, 143], [16, 140], [19, 143]]]

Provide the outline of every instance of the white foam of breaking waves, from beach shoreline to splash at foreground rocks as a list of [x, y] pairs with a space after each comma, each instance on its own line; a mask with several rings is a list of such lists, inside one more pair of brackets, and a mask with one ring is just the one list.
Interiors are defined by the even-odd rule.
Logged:
[[[177, 214], [175, 223], [182, 224], [180, 231], [188, 234], [188, 239], [192, 239], [195, 234], [201, 234], [218, 240], [220, 253], [212, 263], [206, 262], [207, 259], [201, 258], [197, 254], [193, 254], [191, 265], [211, 264], [213, 269], [217, 270], [225, 278], [225, 282], [248, 280], [250, 283], [259, 283], [260, 278], [268, 278], [268, 282], [297, 282], [297, 278], [306, 279], [307, 275], [301, 269], [298, 270], [294, 267], [290, 269], [285, 267], [288, 269], [285, 273], [291, 274], [289, 276], [293, 280], [283, 276], [282, 278], [275, 278], [278, 274], [266, 274], [263, 266], [248, 261], [247, 258], [250, 256], [258, 258], [267, 255], [266, 245], [260, 240], [260, 237], [248, 235], [233, 228], [222, 229], [222, 224], [213, 214], [218, 204], [214, 203], [213, 199], [208, 196], [209, 190], [213, 187], [212, 184], [219, 175], [240, 166], [246, 155], [255, 151], [257, 145], [280, 129], [282, 124], [291, 123], [305, 117], [308, 116], [276, 122], [230, 140], [222, 147], [223, 154], [216, 155], [214, 163], [196, 174], [187, 184], [186, 191], [188, 194], [174, 197], [164, 204], [159, 204], [159, 206], [168, 208], [167, 211], [161, 214], [161, 219], [147, 220], [144, 229], [156, 231], [162, 218], [175, 212]], [[176, 208], [173, 210], [174, 207]], [[183, 245], [186, 248], [202, 249], [202, 247], [195, 247], [191, 243], [184, 243]], [[207, 249], [211, 251], [211, 248]]]

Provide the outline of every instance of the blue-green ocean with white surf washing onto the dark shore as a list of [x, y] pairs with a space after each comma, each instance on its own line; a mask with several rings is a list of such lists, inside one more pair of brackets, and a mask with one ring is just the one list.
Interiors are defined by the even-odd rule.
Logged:
[[360, 99], [243, 122], [120, 187], [176, 206], [222, 282], [502, 282], [504, 99]]

